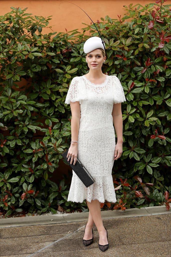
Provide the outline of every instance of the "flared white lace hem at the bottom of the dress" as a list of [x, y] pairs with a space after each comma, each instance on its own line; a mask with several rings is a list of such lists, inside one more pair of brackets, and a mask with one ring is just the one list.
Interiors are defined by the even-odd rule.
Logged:
[[100, 203], [104, 203], [107, 200], [108, 202], [116, 203], [117, 199], [112, 175], [93, 176], [95, 183], [86, 187], [74, 173], [73, 171], [67, 201], [82, 203], [86, 199], [88, 202], [98, 200]]

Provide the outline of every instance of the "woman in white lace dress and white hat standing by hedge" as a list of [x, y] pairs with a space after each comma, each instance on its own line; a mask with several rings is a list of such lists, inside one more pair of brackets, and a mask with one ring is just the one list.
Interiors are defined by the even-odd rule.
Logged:
[[[84, 44], [89, 72], [74, 77], [68, 89], [65, 103], [70, 104], [71, 146], [67, 158], [75, 164], [77, 157], [95, 179], [88, 188], [73, 171], [68, 201], [82, 203], [89, 209], [84, 230], [85, 246], [93, 243], [93, 224], [99, 233], [99, 249], [108, 249], [107, 230], [103, 226], [100, 203], [115, 203], [116, 195], [112, 179], [114, 160], [120, 158], [123, 143], [121, 102], [126, 101], [124, 91], [116, 76], [103, 74], [106, 60], [105, 48], [98, 37], [89, 38]], [[115, 130], [117, 144], [115, 144]]]

